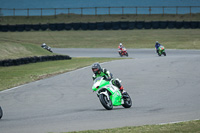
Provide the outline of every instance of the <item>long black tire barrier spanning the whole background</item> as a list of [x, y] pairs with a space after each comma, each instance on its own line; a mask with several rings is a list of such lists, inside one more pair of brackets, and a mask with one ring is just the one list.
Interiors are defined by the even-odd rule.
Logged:
[[172, 29], [200, 28], [199, 21], [135, 21], [135, 22], [95, 22], [95, 23], [56, 23], [56, 24], [21, 24], [0, 25], [0, 31], [30, 31], [30, 30], [128, 30], [128, 29]]

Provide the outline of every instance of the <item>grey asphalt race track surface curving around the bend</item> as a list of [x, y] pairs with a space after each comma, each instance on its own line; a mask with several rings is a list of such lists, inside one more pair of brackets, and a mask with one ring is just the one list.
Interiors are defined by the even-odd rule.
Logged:
[[[72, 57], [118, 57], [115, 49], [53, 49]], [[47, 133], [160, 124], [200, 118], [200, 51], [128, 49], [102, 63], [133, 100], [107, 111], [92, 92], [90, 66], [0, 92], [1, 133]], [[124, 57], [126, 58], [126, 57]], [[73, 59], [73, 58], [72, 58]], [[98, 60], [97, 60], [98, 62]]]

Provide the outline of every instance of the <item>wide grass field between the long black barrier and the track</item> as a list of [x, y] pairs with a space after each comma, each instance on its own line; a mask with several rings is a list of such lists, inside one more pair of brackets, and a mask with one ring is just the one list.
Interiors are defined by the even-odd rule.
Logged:
[[199, 29], [0, 32], [0, 51], [3, 45], [44, 42], [56, 48], [117, 48], [120, 42], [127, 48], [154, 48], [157, 40], [166, 49], [200, 49], [199, 35]]

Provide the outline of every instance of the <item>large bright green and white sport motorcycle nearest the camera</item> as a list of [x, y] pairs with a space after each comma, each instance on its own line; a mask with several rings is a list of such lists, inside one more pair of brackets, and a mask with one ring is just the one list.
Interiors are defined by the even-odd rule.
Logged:
[[124, 108], [132, 106], [132, 100], [128, 93], [125, 92], [122, 95], [119, 89], [112, 84], [112, 80], [97, 77], [94, 80], [92, 90], [97, 93], [101, 104], [107, 110], [112, 110], [113, 106], [122, 105]]

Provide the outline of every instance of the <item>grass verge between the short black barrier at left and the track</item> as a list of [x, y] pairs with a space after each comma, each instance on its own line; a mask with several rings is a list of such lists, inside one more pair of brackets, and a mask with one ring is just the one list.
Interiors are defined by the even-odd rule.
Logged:
[[94, 62], [107, 62], [118, 59], [119, 58], [72, 58], [71, 60], [0, 67], [0, 91], [89, 66]]

